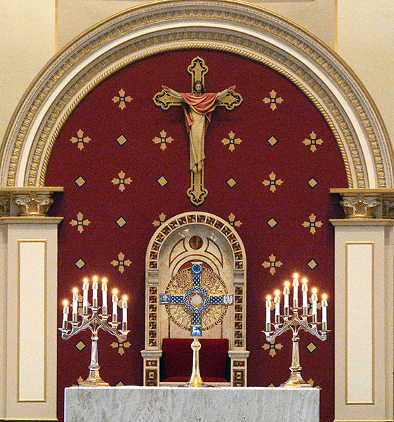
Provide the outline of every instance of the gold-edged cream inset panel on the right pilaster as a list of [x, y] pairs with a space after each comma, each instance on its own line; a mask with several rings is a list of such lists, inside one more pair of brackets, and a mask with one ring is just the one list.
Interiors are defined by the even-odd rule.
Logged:
[[374, 404], [374, 243], [346, 243], [346, 404]]

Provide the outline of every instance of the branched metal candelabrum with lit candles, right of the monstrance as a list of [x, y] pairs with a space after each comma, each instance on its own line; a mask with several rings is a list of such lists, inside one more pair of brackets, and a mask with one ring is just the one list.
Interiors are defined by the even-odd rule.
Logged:
[[[323, 295], [321, 299], [321, 309], [322, 309], [322, 321], [321, 323], [317, 321], [317, 290], [312, 289], [312, 315], [308, 314], [309, 304], [307, 302], [307, 279], [303, 279], [302, 284], [302, 295], [303, 295], [303, 304], [302, 308], [298, 307], [298, 275], [294, 274], [293, 279], [293, 307], [289, 308], [289, 295], [290, 295], [290, 283], [285, 282], [285, 288], [283, 289], [284, 296], [284, 307], [283, 314], [280, 313], [281, 297], [279, 295], [279, 290], [276, 290], [276, 295], [274, 298], [275, 304], [275, 320], [271, 324], [271, 309], [273, 309], [271, 304], [271, 297], [267, 296], [266, 300], [266, 329], [262, 331], [266, 335], [266, 340], [271, 342], [271, 340], [277, 338], [279, 335], [285, 333], [286, 331], [291, 330], [293, 333], [293, 349], [292, 349], [292, 359], [290, 366], [290, 378], [288, 381], [281, 384], [283, 388], [312, 388], [312, 385], [304, 381], [301, 376], [300, 366], [300, 330], [306, 331], [319, 338], [319, 340], [325, 341], [327, 338], [327, 333], [331, 330], [327, 330], [327, 296]], [[291, 309], [291, 315], [289, 312]], [[300, 312], [301, 311], [301, 312]], [[309, 319], [312, 319], [310, 321]], [[281, 322], [283, 320], [283, 322]], [[321, 330], [317, 327], [321, 325]], [[273, 330], [271, 329], [273, 326]]]

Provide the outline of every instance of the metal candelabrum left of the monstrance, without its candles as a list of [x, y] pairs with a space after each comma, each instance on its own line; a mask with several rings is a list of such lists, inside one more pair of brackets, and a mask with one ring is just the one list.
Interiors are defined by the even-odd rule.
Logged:
[[[80, 333], [80, 331], [85, 331], [87, 328], [92, 331], [92, 354], [90, 359], [90, 373], [85, 381], [80, 383], [81, 387], [109, 387], [109, 383], [103, 381], [99, 374], [99, 351], [97, 348], [97, 341], [99, 340], [98, 331], [101, 328], [103, 331], [115, 335], [116, 338], [120, 341], [125, 341], [128, 333], [130, 332], [127, 329], [127, 322], [123, 321], [122, 323], [118, 322], [117, 314], [116, 318], [113, 318], [113, 321], [109, 322], [109, 314], [98, 314], [99, 307], [91, 306], [89, 309], [92, 309], [92, 314], [87, 314], [87, 307], [83, 307], [82, 321], [78, 322], [77, 314], [73, 314], [73, 321], [65, 321], [63, 319], [63, 327], [59, 328], [61, 331], [61, 338], [63, 340], [68, 340], [73, 337], [73, 335]], [[71, 329], [68, 329], [68, 324], [71, 324]], [[118, 325], [121, 324], [121, 329], [118, 330]]]

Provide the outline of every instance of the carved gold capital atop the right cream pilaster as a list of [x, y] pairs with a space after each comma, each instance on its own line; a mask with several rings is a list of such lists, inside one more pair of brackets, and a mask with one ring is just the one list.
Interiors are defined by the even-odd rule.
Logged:
[[394, 218], [394, 189], [330, 189], [330, 193], [342, 196], [346, 218]]

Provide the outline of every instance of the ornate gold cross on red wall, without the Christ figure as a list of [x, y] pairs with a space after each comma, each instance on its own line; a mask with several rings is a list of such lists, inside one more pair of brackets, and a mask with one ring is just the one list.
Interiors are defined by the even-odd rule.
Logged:
[[[208, 70], [208, 66], [202, 58], [198, 56], [193, 58], [192, 63], [187, 68], [187, 72], [192, 75], [192, 92], [195, 89], [196, 81], [202, 82], [204, 87], [205, 75], [208, 73]], [[156, 106], [161, 107], [163, 110], [168, 110], [171, 106], [181, 106], [183, 103], [179, 98], [166, 91], [166, 89], [156, 93], [153, 101]], [[240, 103], [242, 103], [242, 96], [234, 91], [229, 91], [228, 94], [218, 99], [215, 106], [223, 106], [227, 110], [233, 110], [233, 108], [240, 106]], [[208, 195], [207, 189], [204, 188], [204, 166], [200, 167], [197, 171], [190, 170], [191, 181], [190, 188], [187, 189], [187, 196], [189, 196], [190, 201], [194, 205], [201, 205]]]

